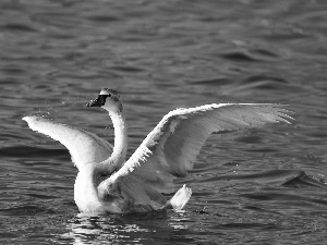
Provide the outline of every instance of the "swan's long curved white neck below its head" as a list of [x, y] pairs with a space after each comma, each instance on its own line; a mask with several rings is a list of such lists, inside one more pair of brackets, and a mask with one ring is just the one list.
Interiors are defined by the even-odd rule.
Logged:
[[114, 145], [111, 157], [108, 159], [119, 166], [125, 161], [128, 151], [128, 125], [123, 113], [109, 112], [114, 127]]

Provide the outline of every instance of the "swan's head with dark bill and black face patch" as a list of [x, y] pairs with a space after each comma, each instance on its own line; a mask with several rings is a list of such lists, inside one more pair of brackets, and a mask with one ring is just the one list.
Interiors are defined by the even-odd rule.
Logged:
[[123, 110], [119, 94], [108, 88], [102, 88], [98, 98], [92, 100], [86, 107], [100, 107], [113, 113], [121, 113]]

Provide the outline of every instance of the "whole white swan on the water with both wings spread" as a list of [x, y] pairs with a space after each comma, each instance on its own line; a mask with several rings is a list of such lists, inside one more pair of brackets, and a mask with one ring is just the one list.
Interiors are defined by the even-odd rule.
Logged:
[[169, 112], [125, 161], [128, 127], [117, 91], [101, 89], [87, 107], [109, 112], [114, 127], [114, 146], [95, 134], [25, 117], [28, 126], [63, 144], [78, 169], [74, 199], [81, 212], [145, 212], [182, 209], [191, 197], [185, 185], [170, 200], [174, 177], [185, 176], [201, 147], [213, 132], [254, 127], [292, 119], [289, 111], [268, 103], [213, 103]]

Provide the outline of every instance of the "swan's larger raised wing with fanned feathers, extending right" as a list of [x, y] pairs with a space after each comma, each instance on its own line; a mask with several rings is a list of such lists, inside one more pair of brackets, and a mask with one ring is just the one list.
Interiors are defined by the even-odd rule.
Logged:
[[185, 176], [213, 132], [287, 122], [289, 111], [278, 105], [213, 103], [169, 112], [125, 164], [109, 179], [133, 175], [161, 193], [172, 192], [174, 176]]

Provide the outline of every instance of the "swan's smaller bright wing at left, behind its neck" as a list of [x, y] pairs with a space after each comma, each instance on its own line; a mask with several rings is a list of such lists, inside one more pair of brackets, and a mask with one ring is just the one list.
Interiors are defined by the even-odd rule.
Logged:
[[108, 159], [112, 152], [112, 146], [107, 140], [84, 130], [35, 115], [25, 117], [23, 120], [28, 123], [31, 130], [48, 135], [64, 145], [78, 170], [86, 163], [98, 163]]

